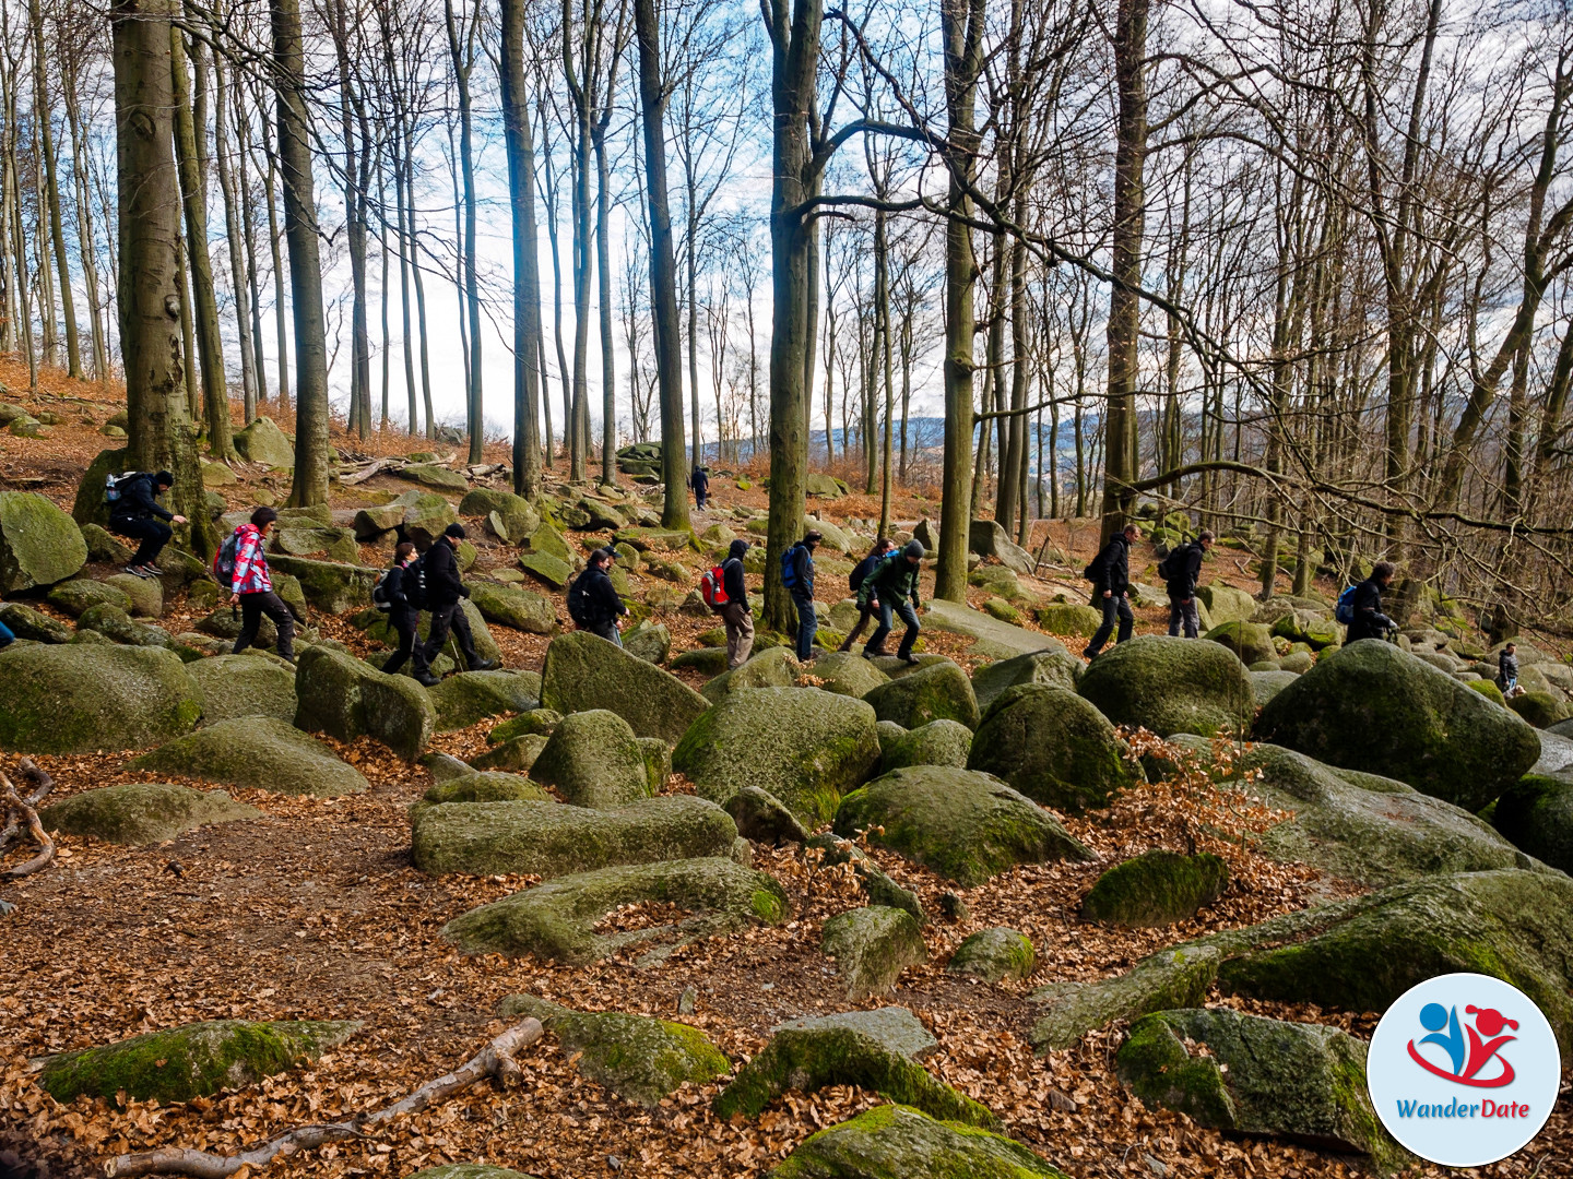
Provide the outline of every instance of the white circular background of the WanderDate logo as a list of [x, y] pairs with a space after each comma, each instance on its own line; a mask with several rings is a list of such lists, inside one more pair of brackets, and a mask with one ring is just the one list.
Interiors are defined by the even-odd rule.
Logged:
[[[1427, 1072], [1409, 1056], [1409, 1042], [1431, 1064], [1444, 1072], [1453, 1066], [1444, 1049], [1422, 1044], [1427, 1027], [1420, 1012], [1430, 1005], [1457, 1011], [1461, 1027], [1472, 1027], [1477, 1016], [1466, 1008], [1493, 1008], [1518, 1022], [1518, 1028], [1502, 1028], [1515, 1039], [1504, 1044], [1501, 1055], [1488, 1061], [1475, 1075], [1497, 1077], [1502, 1060], [1513, 1066], [1513, 1080], [1497, 1088], [1460, 1085]], [[1468, 1033], [1463, 1033], [1468, 1047]], [[1427, 1162], [1442, 1166], [1485, 1166], [1523, 1149], [1551, 1116], [1562, 1082], [1562, 1053], [1551, 1023], [1524, 992], [1490, 975], [1439, 975], [1406, 990], [1381, 1017], [1372, 1036], [1365, 1063], [1372, 1105], [1387, 1132], [1402, 1146]], [[1472, 1111], [1466, 1116], [1408, 1116], [1400, 1102], [1416, 1107], [1444, 1107]], [[1510, 1110], [1527, 1107], [1527, 1113], [1483, 1116], [1493, 1107]]]

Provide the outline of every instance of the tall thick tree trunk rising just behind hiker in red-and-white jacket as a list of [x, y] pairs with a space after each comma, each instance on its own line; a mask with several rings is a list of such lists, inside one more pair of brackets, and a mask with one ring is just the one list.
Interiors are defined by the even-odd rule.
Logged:
[[322, 264], [311, 192], [310, 115], [299, 0], [271, 0], [274, 88], [278, 97], [278, 171], [285, 189], [289, 241], [289, 296], [296, 333], [294, 508], [327, 503], [327, 329], [322, 319]]

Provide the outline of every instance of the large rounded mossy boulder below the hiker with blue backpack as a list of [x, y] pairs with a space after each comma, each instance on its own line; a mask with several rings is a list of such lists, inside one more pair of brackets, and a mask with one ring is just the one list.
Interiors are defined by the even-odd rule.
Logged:
[[758, 786], [818, 825], [879, 764], [875, 711], [816, 689], [742, 689], [698, 717], [672, 753], [700, 795]]

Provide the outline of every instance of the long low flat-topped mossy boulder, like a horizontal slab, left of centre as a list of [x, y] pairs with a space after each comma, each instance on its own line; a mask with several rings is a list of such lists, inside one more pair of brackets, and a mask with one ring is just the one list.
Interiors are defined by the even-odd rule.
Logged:
[[[472, 781], [477, 777], [442, 783], [444, 797], [500, 792], [505, 784], [495, 783], [492, 791]], [[728, 855], [736, 838], [738, 828], [725, 811], [689, 794], [604, 811], [527, 799], [461, 802], [453, 797], [418, 806], [411, 814], [412, 860], [429, 876], [549, 879], [613, 865]]]

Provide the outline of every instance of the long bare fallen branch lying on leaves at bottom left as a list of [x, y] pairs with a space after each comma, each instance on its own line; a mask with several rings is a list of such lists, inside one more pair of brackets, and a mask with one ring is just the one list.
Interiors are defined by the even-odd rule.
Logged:
[[367, 1130], [401, 1118], [407, 1113], [420, 1113], [436, 1102], [447, 1100], [461, 1089], [467, 1089], [484, 1077], [494, 1077], [499, 1085], [511, 1085], [519, 1077], [519, 1061], [514, 1053], [527, 1049], [541, 1038], [541, 1022], [527, 1019], [497, 1036], [453, 1072], [426, 1082], [403, 1100], [382, 1110], [363, 1113], [344, 1122], [327, 1122], [324, 1126], [299, 1126], [294, 1130], [269, 1138], [266, 1143], [247, 1148], [239, 1154], [211, 1154], [209, 1151], [192, 1151], [179, 1146], [168, 1146], [162, 1151], [145, 1151], [142, 1154], [121, 1154], [110, 1159], [105, 1174], [110, 1179], [126, 1179], [143, 1174], [184, 1174], [192, 1179], [228, 1179], [242, 1168], [261, 1170], [274, 1159], [288, 1157], [297, 1151], [310, 1151], [324, 1143], [344, 1141], [346, 1138], [365, 1138]]

